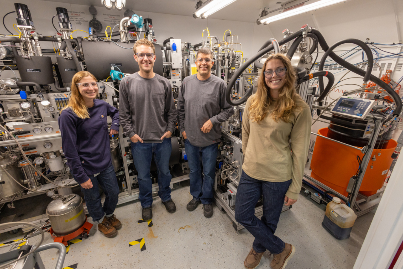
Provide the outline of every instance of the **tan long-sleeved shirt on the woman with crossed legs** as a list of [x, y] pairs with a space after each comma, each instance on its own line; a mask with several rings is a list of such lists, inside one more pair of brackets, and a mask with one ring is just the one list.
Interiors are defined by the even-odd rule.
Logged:
[[274, 106], [269, 106], [266, 117], [256, 123], [249, 119], [250, 100], [246, 102], [242, 117], [242, 169], [250, 177], [264, 181], [284, 182], [291, 179], [286, 196], [297, 200], [310, 142], [310, 108], [299, 99], [289, 123], [286, 123], [274, 121]]

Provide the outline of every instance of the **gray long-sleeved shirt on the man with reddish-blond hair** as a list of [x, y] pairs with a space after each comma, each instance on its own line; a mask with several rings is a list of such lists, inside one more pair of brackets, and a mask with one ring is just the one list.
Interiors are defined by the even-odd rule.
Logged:
[[138, 73], [124, 77], [119, 86], [119, 117], [123, 133], [137, 134], [145, 143], [159, 143], [176, 127], [177, 111], [168, 79], [155, 74], [145, 79]]

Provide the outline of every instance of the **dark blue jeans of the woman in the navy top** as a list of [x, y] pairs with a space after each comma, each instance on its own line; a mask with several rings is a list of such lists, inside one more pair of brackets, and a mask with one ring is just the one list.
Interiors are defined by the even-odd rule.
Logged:
[[[99, 175], [89, 175], [92, 182], [91, 189], [81, 188], [84, 194], [88, 213], [94, 222], [102, 221], [105, 215], [112, 215], [118, 204], [119, 186], [112, 163]], [[105, 193], [105, 202], [102, 207], [101, 194], [98, 185], [101, 185]]]

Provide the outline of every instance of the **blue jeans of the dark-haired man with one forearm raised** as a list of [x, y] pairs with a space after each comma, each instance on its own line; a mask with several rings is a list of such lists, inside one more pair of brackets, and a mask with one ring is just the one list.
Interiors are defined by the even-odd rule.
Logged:
[[186, 139], [185, 151], [190, 169], [190, 194], [196, 200], [202, 201], [202, 204], [211, 204], [214, 177], [216, 176], [218, 143], [206, 147], [196, 147]]

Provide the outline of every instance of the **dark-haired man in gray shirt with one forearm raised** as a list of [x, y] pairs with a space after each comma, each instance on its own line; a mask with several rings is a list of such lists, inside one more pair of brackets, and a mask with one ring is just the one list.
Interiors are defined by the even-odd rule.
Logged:
[[234, 108], [225, 100], [226, 83], [211, 75], [212, 66], [212, 52], [208, 48], [198, 50], [198, 73], [183, 80], [177, 105], [178, 126], [185, 138], [190, 194], [193, 196], [186, 208], [193, 211], [202, 202], [204, 217], [207, 218], [213, 215], [213, 185], [221, 123], [234, 114]]

